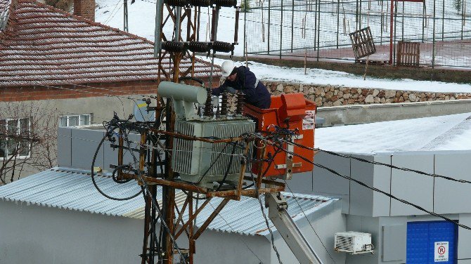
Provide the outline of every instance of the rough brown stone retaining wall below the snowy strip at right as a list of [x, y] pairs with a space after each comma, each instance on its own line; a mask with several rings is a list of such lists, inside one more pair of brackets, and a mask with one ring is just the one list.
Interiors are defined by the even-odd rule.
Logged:
[[272, 95], [280, 95], [281, 93], [304, 93], [304, 97], [316, 102], [318, 107], [378, 103], [413, 103], [471, 98], [471, 93], [394, 91], [375, 88], [350, 88], [334, 85], [294, 84], [279, 81], [264, 81], [264, 84]]

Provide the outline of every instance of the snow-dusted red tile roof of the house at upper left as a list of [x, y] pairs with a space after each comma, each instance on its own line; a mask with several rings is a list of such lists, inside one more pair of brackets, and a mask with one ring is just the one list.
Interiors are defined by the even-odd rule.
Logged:
[[[36, 1], [9, 2], [0, 0], [0, 13], [9, 10], [0, 28], [0, 86], [157, 79], [151, 41]], [[163, 63], [168, 69], [168, 58]], [[181, 70], [190, 66], [183, 60]], [[195, 77], [208, 72], [206, 62], [195, 63]]]

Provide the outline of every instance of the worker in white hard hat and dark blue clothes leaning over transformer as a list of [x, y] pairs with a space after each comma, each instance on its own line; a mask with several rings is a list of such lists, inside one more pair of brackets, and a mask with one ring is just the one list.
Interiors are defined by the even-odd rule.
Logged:
[[235, 67], [234, 62], [226, 60], [222, 62], [221, 70], [221, 75], [226, 77], [226, 81], [218, 88], [212, 89], [213, 95], [220, 95], [226, 90], [231, 93], [240, 90], [245, 94], [245, 103], [260, 109], [270, 107], [271, 95], [269, 91], [262, 81], [259, 81], [253, 72], [250, 72], [248, 67]]

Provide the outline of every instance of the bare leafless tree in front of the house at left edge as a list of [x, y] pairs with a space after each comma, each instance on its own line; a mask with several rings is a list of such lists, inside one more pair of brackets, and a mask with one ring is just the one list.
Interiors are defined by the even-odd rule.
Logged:
[[0, 185], [56, 165], [58, 110], [35, 101], [0, 105]]

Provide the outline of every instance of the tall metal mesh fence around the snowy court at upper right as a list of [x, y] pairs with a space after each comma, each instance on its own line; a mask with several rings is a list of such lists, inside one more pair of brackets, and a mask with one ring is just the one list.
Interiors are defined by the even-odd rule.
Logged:
[[396, 65], [396, 44], [411, 41], [420, 66], [471, 67], [471, 0], [257, 0], [245, 13], [245, 51], [355, 60], [349, 33], [364, 27], [375, 41], [371, 61]]

